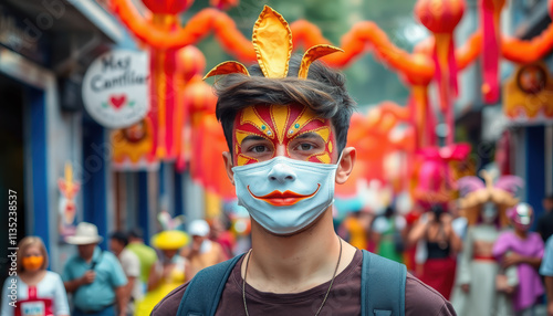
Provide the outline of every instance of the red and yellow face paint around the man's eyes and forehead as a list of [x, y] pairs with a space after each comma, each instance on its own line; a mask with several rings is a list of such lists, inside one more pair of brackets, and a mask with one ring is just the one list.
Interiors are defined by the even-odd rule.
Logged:
[[236, 166], [279, 155], [331, 164], [336, 147], [331, 120], [301, 105], [249, 106], [237, 115], [232, 138]]

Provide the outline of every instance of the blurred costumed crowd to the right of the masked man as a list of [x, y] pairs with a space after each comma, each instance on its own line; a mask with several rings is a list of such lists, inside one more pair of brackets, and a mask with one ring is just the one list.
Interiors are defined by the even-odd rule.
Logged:
[[393, 206], [380, 214], [364, 209], [337, 231], [356, 247], [406, 264], [458, 315], [553, 315], [553, 194], [538, 219], [526, 203], [478, 207], [476, 217], [456, 203], [406, 214]]

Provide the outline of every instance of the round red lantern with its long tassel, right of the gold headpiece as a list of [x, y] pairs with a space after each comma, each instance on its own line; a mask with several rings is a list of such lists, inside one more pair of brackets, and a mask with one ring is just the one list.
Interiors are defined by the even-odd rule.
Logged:
[[457, 62], [453, 30], [465, 12], [463, 0], [418, 0], [415, 14], [434, 33], [436, 64], [435, 78], [439, 86], [441, 110], [449, 125], [447, 143], [453, 143], [453, 112], [451, 99], [457, 95]]

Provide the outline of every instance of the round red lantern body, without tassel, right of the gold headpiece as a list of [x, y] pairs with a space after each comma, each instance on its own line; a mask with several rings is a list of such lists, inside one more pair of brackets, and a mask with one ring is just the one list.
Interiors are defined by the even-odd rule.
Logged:
[[415, 4], [415, 14], [432, 33], [452, 33], [463, 12], [463, 0], [418, 0]]

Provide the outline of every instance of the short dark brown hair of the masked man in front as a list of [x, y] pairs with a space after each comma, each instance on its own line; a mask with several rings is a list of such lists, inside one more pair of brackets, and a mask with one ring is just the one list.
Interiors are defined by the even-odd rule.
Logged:
[[230, 74], [216, 81], [219, 97], [216, 115], [221, 122], [225, 138], [232, 152], [232, 127], [238, 112], [251, 105], [307, 106], [322, 118], [331, 119], [336, 131], [338, 151], [347, 143], [349, 118], [355, 102], [345, 87], [345, 76], [320, 61], [311, 64], [306, 80], [299, 78], [301, 56], [290, 60], [288, 77], [264, 77], [259, 65], [248, 69], [250, 76]]

